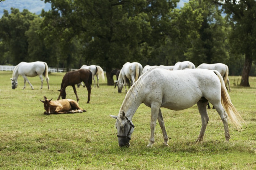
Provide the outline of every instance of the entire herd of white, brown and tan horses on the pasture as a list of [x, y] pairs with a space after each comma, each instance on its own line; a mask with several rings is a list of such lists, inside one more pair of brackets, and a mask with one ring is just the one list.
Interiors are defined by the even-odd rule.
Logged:
[[[43, 75], [46, 79], [49, 89], [48, 66], [44, 62], [19, 63], [13, 70], [12, 89], [18, 85], [18, 76], [24, 78], [25, 83], [28, 77], [39, 75], [43, 87]], [[90, 102], [91, 85], [94, 76], [97, 77], [97, 86], [99, 87], [99, 77], [104, 80], [104, 72], [100, 66], [83, 65], [79, 70], [67, 72], [61, 82], [60, 95], [57, 100], [48, 100], [44, 96], [44, 114], [62, 114], [62, 113], [82, 113], [84, 109], [78, 106], [79, 98], [76, 93], [76, 86], [84, 83], [88, 91], [87, 103]], [[116, 129], [118, 144], [120, 147], [130, 146], [131, 135], [134, 131], [132, 117], [141, 103], [151, 108], [150, 122], [150, 141], [148, 144], [152, 146], [155, 143], [154, 130], [156, 120], [162, 129], [164, 137], [164, 145], [168, 146], [168, 136], [165, 130], [164, 119], [161, 107], [171, 110], [183, 110], [197, 104], [201, 115], [202, 127], [197, 138], [197, 142], [203, 140], [204, 132], [209, 121], [207, 114], [207, 104], [209, 102], [216, 109], [224, 125], [226, 141], [229, 140], [228, 118], [236, 126], [241, 129], [241, 122], [244, 121], [241, 115], [233, 106], [227, 91], [226, 83], [230, 91], [228, 79], [228, 66], [223, 63], [206, 64], [203, 63], [198, 67], [189, 61], [178, 62], [174, 66], [149, 66], [144, 68], [140, 63], [125, 63], [121, 70], [112, 70], [111, 76], [116, 75], [116, 86], [118, 92], [122, 92], [125, 87], [125, 99], [117, 116], [110, 115], [116, 119]], [[130, 88], [131, 81], [131, 88]], [[32, 89], [33, 86], [28, 81]], [[129, 85], [127, 92], [126, 85]], [[76, 100], [66, 99], [66, 87], [71, 85], [76, 95]], [[115, 87], [116, 87], [115, 86]], [[60, 96], [62, 100], [60, 100]]]

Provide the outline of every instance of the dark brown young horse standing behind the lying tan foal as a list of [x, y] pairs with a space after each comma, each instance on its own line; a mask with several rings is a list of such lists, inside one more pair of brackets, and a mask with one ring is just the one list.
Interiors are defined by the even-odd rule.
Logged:
[[[74, 93], [76, 94], [76, 86], [78, 83], [84, 82], [84, 85], [87, 88], [88, 91], [88, 99], [87, 99], [87, 103], [90, 102], [91, 99], [91, 90], [92, 90], [92, 72], [88, 69], [79, 69], [79, 70], [75, 70], [75, 71], [69, 71], [67, 72], [61, 82], [60, 85], [60, 90], [58, 90], [60, 92], [60, 95], [58, 97], [57, 100], [60, 100], [60, 96], [62, 99], [66, 99], [66, 87], [68, 85], [72, 85]], [[78, 102], [78, 96], [76, 94], [76, 100]]]

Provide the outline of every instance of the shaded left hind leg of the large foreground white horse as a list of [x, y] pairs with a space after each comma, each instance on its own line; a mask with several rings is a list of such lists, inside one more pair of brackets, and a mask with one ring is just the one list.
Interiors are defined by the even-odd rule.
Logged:
[[200, 142], [203, 140], [204, 137], [204, 132], [207, 126], [207, 123], [209, 121], [209, 117], [208, 117], [208, 113], [207, 113], [207, 109], [206, 109], [206, 105], [207, 105], [208, 101], [207, 100], [199, 100], [196, 104], [198, 107], [198, 111], [201, 115], [201, 121], [202, 121], [202, 127], [199, 133], [198, 138], [196, 139], [196, 142]]

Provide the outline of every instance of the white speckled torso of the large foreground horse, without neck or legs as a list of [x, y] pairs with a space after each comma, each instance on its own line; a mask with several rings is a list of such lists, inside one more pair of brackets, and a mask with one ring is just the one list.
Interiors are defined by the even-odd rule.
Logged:
[[192, 107], [202, 97], [220, 99], [220, 80], [212, 70], [150, 69], [143, 74], [144, 103], [161, 103], [161, 107], [182, 110]]

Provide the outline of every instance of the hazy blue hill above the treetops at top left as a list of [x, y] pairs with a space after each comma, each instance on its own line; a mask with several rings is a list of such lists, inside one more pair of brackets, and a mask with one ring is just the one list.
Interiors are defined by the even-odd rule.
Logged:
[[2, 18], [4, 14], [4, 9], [11, 13], [11, 7], [18, 8], [21, 11], [23, 9], [28, 9], [28, 11], [32, 13], [36, 13], [39, 15], [44, 9], [44, 11], [51, 10], [50, 3], [44, 3], [41, 0], [5, 0], [4, 2], [0, 3], [0, 18]]

